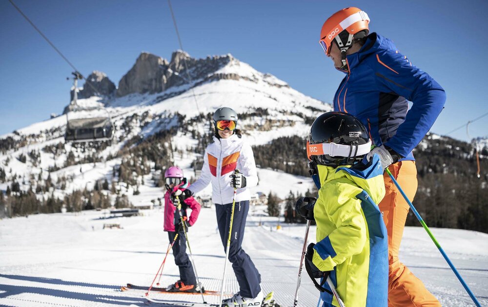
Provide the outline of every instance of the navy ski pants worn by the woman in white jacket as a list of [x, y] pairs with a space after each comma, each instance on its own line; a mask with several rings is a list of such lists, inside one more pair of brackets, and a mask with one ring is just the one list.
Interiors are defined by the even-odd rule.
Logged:
[[[224, 250], [227, 247], [227, 237], [229, 235], [230, 214], [232, 204], [215, 205], [217, 213], [217, 223], [219, 225], [220, 237]], [[252, 263], [249, 255], [245, 253], [241, 245], [244, 238], [245, 220], [249, 211], [249, 201], [236, 202], [234, 209], [234, 220], [232, 223], [232, 235], [230, 238], [229, 261], [236, 274], [241, 295], [248, 298], [255, 298], [261, 291], [261, 275]]]

